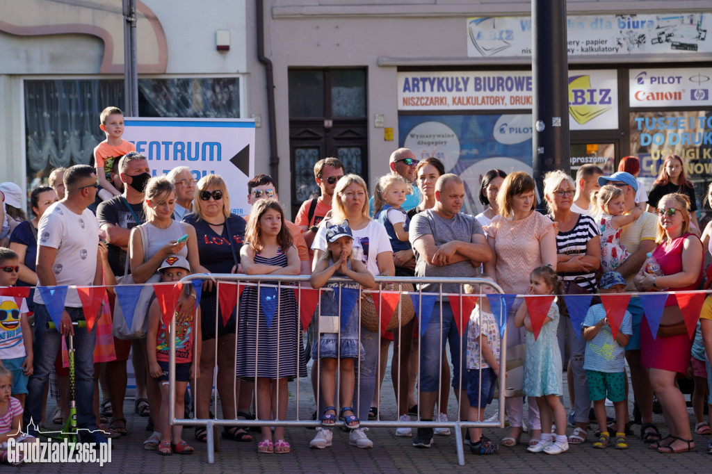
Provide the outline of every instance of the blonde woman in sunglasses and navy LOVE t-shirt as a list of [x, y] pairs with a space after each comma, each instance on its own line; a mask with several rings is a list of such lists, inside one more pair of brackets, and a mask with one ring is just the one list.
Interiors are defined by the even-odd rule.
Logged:
[[[242, 273], [240, 266], [240, 248], [245, 235], [244, 218], [230, 212], [230, 195], [224, 179], [218, 174], [206, 174], [202, 177], [195, 191], [193, 201], [194, 214], [185, 216], [184, 222], [194, 226], [198, 237], [198, 255], [201, 272], [204, 273]], [[230, 319], [224, 323], [219, 317], [215, 320], [217, 307], [217, 288], [212, 282], [206, 282], [200, 298], [201, 329], [203, 349], [200, 354], [200, 377], [197, 391], [194, 390], [195, 411], [198, 418], [208, 418], [210, 398], [215, 367], [215, 346], [217, 344], [217, 389], [222, 404], [223, 418], [234, 419], [235, 393], [235, 322], [233, 310]], [[217, 327], [217, 332], [216, 328]], [[252, 441], [252, 437], [236, 426], [226, 427], [223, 438], [235, 441]], [[195, 428], [195, 438], [207, 441], [205, 428]]]

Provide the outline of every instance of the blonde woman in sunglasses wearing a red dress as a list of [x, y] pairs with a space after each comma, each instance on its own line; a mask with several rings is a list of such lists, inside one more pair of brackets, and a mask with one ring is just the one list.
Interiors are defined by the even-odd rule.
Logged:
[[[702, 280], [703, 249], [700, 239], [690, 231], [690, 201], [685, 194], [666, 194], [655, 210], [658, 230], [653, 257], [662, 276], [647, 273], [646, 265], [635, 276], [639, 291], [697, 290]], [[661, 406], [669, 436], [650, 445], [660, 453], [696, 451], [684, 396], [676, 384], [679, 374], [687, 374], [692, 341], [675, 293], [665, 302], [662, 319], [653, 338], [648, 320], [640, 328], [643, 367], [649, 369], [650, 383]]]

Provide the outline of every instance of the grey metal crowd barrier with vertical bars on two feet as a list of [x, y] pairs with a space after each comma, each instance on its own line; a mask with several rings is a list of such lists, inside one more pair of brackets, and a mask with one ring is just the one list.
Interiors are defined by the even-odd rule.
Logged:
[[[191, 280], [211, 280], [214, 282], [214, 284], [217, 284], [217, 282], [237, 282], [239, 284], [244, 284], [244, 285], [251, 285], [251, 286], [256, 286], [258, 290], [258, 294], [263, 287], [271, 287], [271, 288], [276, 288], [277, 289], [277, 295], [281, 295], [281, 290], [284, 290], [286, 288], [293, 288], [295, 289], [295, 292], [298, 293], [298, 295], [301, 295], [301, 293], [304, 290], [310, 290], [310, 291], [315, 291], [312, 290], [310, 283], [309, 283], [309, 275], [298, 275], [298, 276], [293, 276], [293, 275], [244, 275], [244, 274], [208, 274], [208, 273], [197, 273], [194, 275], [189, 275], [186, 278], [182, 280], [183, 283], [187, 283]], [[436, 295], [436, 302], [434, 303], [435, 307], [433, 309], [433, 314], [431, 317], [436, 317], [436, 307], [438, 305], [441, 305], [442, 302], [448, 302], [448, 295], [454, 295], [453, 293], [447, 293], [442, 290], [442, 285], [444, 284], [457, 284], [459, 285], [460, 292], [459, 294], [455, 294], [456, 297], [459, 296], [458, 301], [462, 303], [463, 301], [463, 296], [465, 293], [463, 293], [463, 285], [466, 283], [469, 283], [471, 285], [487, 285], [493, 290], [495, 290], [496, 293], [498, 294], [503, 294], [503, 290], [496, 284], [493, 283], [491, 280], [488, 280], [486, 278], [405, 278], [405, 277], [376, 277], [375, 278], [376, 283], [395, 283], [398, 285], [399, 288], [399, 297], [402, 296], [404, 293], [402, 291], [402, 287], [400, 284], [404, 283], [412, 283], [414, 285], [414, 288], [417, 288], [418, 284], [423, 284], [423, 283], [433, 283], [439, 286], [439, 291], [438, 292], [422, 292], [419, 290], [415, 290], [414, 292], [409, 292], [409, 293], [414, 293], [418, 295], [417, 302], [419, 305], [415, 305], [415, 311], [416, 311], [416, 316], [421, 314], [421, 307], [423, 303], [423, 298], [422, 295]], [[269, 282], [269, 283], [266, 283]], [[353, 280], [350, 280], [349, 278], [332, 278], [329, 280], [329, 283], [338, 283], [340, 286], [338, 287], [343, 288], [342, 285], [345, 283], [350, 283], [351, 285], [354, 284]], [[237, 291], [237, 290], [236, 290]], [[322, 288], [322, 291], [328, 291], [326, 288]], [[360, 290], [360, 293], [363, 291], [368, 291], [368, 290]], [[217, 292], [216, 292], [217, 293]], [[341, 298], [341, 290], [339, 290], [339, 298]], [[360, 295], [359, 295], [360, 296]], [[472, 295], [472, 296], [477, 296]], [[485, 297], [483, 295], [479, 295], [480, 297]], [[219, 300], [219, 295], [216, 295], [216, 298]], [[237, 318], [238, 321], [236, 323], [236, 331], [239, 330], [239, 318], [241, 317], [240, 312], [239, 312], [239, 307], [240, 307], [240, 299], [241, 295], [238, 292], [237, 295], [237, 302], [236, 302], [236, 313], [237, 313]], [[303, 302], [304, 300], [299, 299], [300, 302]], [[339, 302], [341, 302], [341, 299], [339, 299]], [[379, 298], [374, 298], [374, 302], [377, 305], [382, 305], [382, 300]], [[359, 305], [359, 314], [360, 314], [360, 305], [361, 305], [361, 298], [359, 297], [356, 302], [357, 305]], [[215, 367], [213, 369], [213, 376], [215, 374], [215, 370], [217, 368], [217, 357], [218, 357], [218, 340], [217, 340], [217, 325], [219, 324], [219, 321], [221, 321], [221, 314], [220, 314], [220, 308], [219, 305], [216, 307], [216, 317], [215, 317], [215, 324], [216, 324], [216, 344], [215, 344]], [[420, 306], [420, 307], [418, 307]], [[462, 305], [461, 305], [462, 307]], [[277, 307], [278, 308], [278, 307]], [[318, 316], [320, 315], [320, 305], [318, 306], [318, 310], [316, 314], [314, 315], [312, 319], [312, 324], [315, 324], [315, 322], [319, 321]], [[381, 315], [382, 311], [380, 310], [382, 307], [379, 307], [379, 311], [377, 313]], [[400, 304], [398, 305], [398, 310], [400, 311]], [[277, 310], [278, 311], [278, 310]], [[461, 310], [464, 311], [464, 310]], [[275, 317], [277, 318], [278, 312], [276, 312]], [[297, 316], [299, 317], [299, 308], [297, 308]], [[461, 324], [466, 325], [467, 322], [469, 321], [469, 314], [467, 315], [462, 315], [461, 319]], [[505, 317], [506, 315], [495, 315], [498, 318]], [[390, 316], [389, 316], [390, 317]], [[441, 317], [441, 315], [440, 315]], [[277, 319], [276, 319], [277, 320]], [[380, 321], [379, 321], [380, 322]], [[422, 332], [421, 332], [421, 324], [422, 321], [419, 318], [418, 324], [417, 324], [417, 330], [418, 330], [418, 337], [422, 337]], [[380, 324], [379, 324], [379, 327]], [[301, 327], [301, 323], [298, 325], [298, 330], [307, 330], [306, 327]], [[504, 428], [504, 416], [505, 416], [505, 397], [502, 396], [502, 394], [506, 394], [506, 378], [505, 378], [505, 373], [506, 373], [506, 330], [505, 332], [501, 335], [501, 364], [500, 364], [500, 373], [498, 374], [498, 391], [500, 396], [498, 397], [498, 400], [496, 403], [498, 403], [498, 420], [497, 421], [463, 421], [461, 420], [460, 417], [460, 409], [461, 409], [461, 404], [468, 404], [467, 397], [465, 396], [464, 399], [463, 397], [460, 397], [458, 400], [458, 414], [456, 417], [453, 417], [453, 419], [447, 421], [447, 422], [440, 422], [440, 421], [419, 421], [419, 420], [412, 420], [412, 421], [399, 421], [398, 420], [398, 410], [396, 410], [396, 419], [394, 420], [382, 420], [379, 419], [380, 416], [377, 417], [377, 419], [374, 420], [368, 420], [368, 419], [361, 419], [360, 425], [362, 427], [367, 427], [367, 428], [412, 428], [413, 430], [417, 428], [451, 428], [452, 431], [454, 431], [454, 438], [455, 438], [455, 447], [457, 451], [457, 458], [458, 458], [458, 463], [460, 465], [464, 465], [464, 451], [463, 451], [463, 439], [462, 439], [462, 429], [463, 428], [472, 428], [472, 427], [480, 427], [480, 428]], [[360, 327], [359, 330], [359, 336], [361, 336], [362, 329]], [[380, 336], [380, 335], [379, 335]], [[442, 327], [441, 327], [441, 336], [442, 336]], [[318, 338], [316, 340], [316, 343], [318, 344]], [[237, 351], [237, 344], [238, 344], [238, 337], [235, 339], [235, 353]], [[259, 342], [257, 341], [257, 344]], [[285, 426], [285, 427], [302, 427], [302, 428], [316, 428], [318, 426], [321, 426], [320, 421], [312, 421], [308, 419], [310, 416], [308, 416], [306, 419], [305, 418], [300, 418], [299, 415], [299, 397], [300, 397], [300, 390], [299, 390], [299, 385], [300, 383], [306, 383], [310, 384], [310, 381], [303, 380], [300, 381], [300, 377], [297, 376], [295, 377], [295, 383], [296, 383], [296, 389], [295, 389], [295, 396], [294, 399], [290, 399], [290, 406], [295, 406], [295, 417], [294, 419], [291, 420], [260, 420], [260, 419], [254, 419], [254, 420], [244, 420], [244, 419], [239, 419], [239, 418], [234, 418], [234, 419], [224, 419], [224, 418], [217, 418], [217, 390], [215, 390], [215, 395], [213, 396], [213, 402], [214, 402], [214, 414], [215, 418], [197, 418], [197, 413], [194, 415], [196, 418], [179, 418], [176, 416], [175, 413], [175, 315], [173, 315], [171, 324], [169, 327], [169, 348], [170, 348], [170, 356], [169, 356], [169, 420], [171, 420], [171, 424], [176, 424], [176, 425], [193, 425], [193, 426], [204, 426], [206, 428], [206, 441], [207, 441], [207, 452], [208, 452], [208, 463], [212, 464], [215, 462], [215, 455], [214, 452], [216, 451], [216, 448], [219, 448], [219, 439], [216, 439], [216, 432], [219, 431], [220, 426], [240, 426], [241, 428], [249, 428], [252, 426]], [[461, 351], [466, 351], [467, 348], [467, 330], [466, 327], [464, 330], [461, 330]], [[298, 348], [299, 349], [299, 348]], [[380, 348], [379, 348], [380, 349]], [[394, 351], [397, 350], [396, 347], [394, 347]], [[446, 349], [445, 349], [446, 350]], [[276, 354], [278, 354], [278, 348], [276, 348]], [[418, 352], [419, 354], [419, 352]], [[442, 354], [442, 352], [441, 352]], [[296, 357], [298, 357], [298, 352], [295, 354]], [[481, 350], [480, 353], [478, 354], [478, 357], [480, 361], [482, 361], [482, 354]], [[418, 357], [418, 373], [420, 372], [420, 357]], [[318, 360], [315, 360], [313, 363], [317, 363]], [[379, 350], [379, 355], [378, 359], [376, 362], [376, 390], [379, 390], [379, 366], [380, 366], [380, 350]], [[194, 364], [199, 364], [199, 360], [194, 359]], [[359, 384], [359, 373], [360, 373], [360, 358], [355, 359], [355, 387], [356, 387], [356, 396], [354, 397], [353, 401], [353, 406], [354, 406], [354, 411], [355, 414], [358, 412], [358, 393], [360, 390], [360, 384]], [[257, 365], [257, 364], [256, 364]], [[297, 364], [298, 365], [298, 364]], [[399, 364], [400, 367], [403, 367], [402, 364]], [[406, 368], [407, 369], [407, 368]], [[255, 368], [256, 370], [256, 368]], [[298, 370], [298, 369], [297, 369]], [[459, 390], [466, 390], [466, 372], [467, 369], [466, 367], [461, 367], [461, 376], [459, 377]], [[320, 371], [317, 371], [317, 374], [319, 374]], [[337, 370], [338, 374], [338, 370]], [[442, 364], [440, 364], [439, 367], [439, 381], [441, 381], [442, 378]], [[192, 384], [196, 384], [196, 380], [193, 379], [191, 381]], [[256, 382], [256, 378], [255, 378]], [[237, 404], [238, 404], [238, 398], [239, 394], [236, 393], [236, 379], [233, 384], [233, 393], [234, 393], [234, 408], [235, 408], [235, 413], [237, 414], [238, 409], [237, 409]], [[448, 385], [449, 381], [448, 381]], [[197, 386], [197, 385], [196, 385]], [[338, 400], [339, 400], [339, 394], [338, 394], [338, 386], [339, 384], [336, 383], [337, 389], [335, 392], [335, 401], [337, 401], [336, 405], [338, 405]], [[278, 390], [278, 384], [277, 384], [277, 390]], [[450, 389], [450, 387], [449, 387]], [[317, 394], [315, 394], [315, 400], [316, 400], [316, 409], [318, 410], [319, 406], [319, 401], [321, 398], [320, 394], [320, 389], [319, 385], [317, 385]], [[194, 393], [197, 393], [197, 391], [194, 391]], [[418, 393], [418, 392], [417, 392]], [[461, 392], [464, 393], [464, 392]], [[255, 404], [256, 404], [256, 409], [255, 412], [257, 413], [257, 397], [256, 397], [256, 384], [255, 384], [255, 389], [253, 390], [253, 395], [255, 396]], [[440, 399], [440, 389], [438, 390], [438, 400]], [[380, 397], [381, 394], [378, 393], [378, 396]], [[389, 395], [388, 395], [389, 396]], [[398, 401], [398, 396], [407, 396], [407, 394], [397, 394], [396, 396], [396, 406], [397, 406], [397, 401]], [[417, 397], [417, 403], [420, 406], [420, 396], [418, 394]], [[277, 393], [277, 399], [278, 399], [278, 393]], [[194, 406], [197, 406], [199, 401], [196, 399], [194, 400]], [[493, 402], [494, 403], [494, 402]], [[438, 402], [439, 405], [439, 402]], [[337, 407], [338, 409], [338, 407]], [[438, 406], [438, 411], [440, 410], [440, 407]], [[379, 414], [381, 411], [379, 410]], [[417, 417], [419, 418], [419, 416]], [[437, 419], [437, 417], [435, 418]], [[332, 426], [332, 428], [338, 428], [340, 426], [343, 426], [343, 422], [337, 421], [335, 425]], [[218, 437], [219, 438], [219, 437]], [[409, 443], [410, 444], [410, 443]], [[304, 448], [307, 448], [304, 446]]]

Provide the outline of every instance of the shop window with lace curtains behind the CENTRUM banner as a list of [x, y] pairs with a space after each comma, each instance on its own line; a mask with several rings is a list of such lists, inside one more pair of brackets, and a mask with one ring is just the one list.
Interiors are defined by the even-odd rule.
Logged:
[[[239, 78], [140, 79], [141, 117], [240, 117]], [[93, 164], [105, 136], [99, 114], [123, 107], [123, 80], [25, 80], [27, 172], [48, 177], [56, 167]]]

